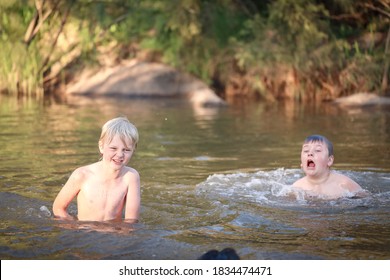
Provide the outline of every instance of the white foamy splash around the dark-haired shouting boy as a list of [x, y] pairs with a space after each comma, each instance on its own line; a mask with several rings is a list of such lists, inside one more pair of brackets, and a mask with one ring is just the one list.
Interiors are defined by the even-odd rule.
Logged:
[[251, 203], [273, 207], [357, 207], [388, 203], [389, 174], [376, 172], [338, 171], [358, 181], [372, 195], [355, 198], [352, 194], [335, 200], [308, 196], [292, 183], [302, 176], [299, 169], [260, 170], [254, 173], [237, 172], [214, 174], [197, 185], [197, 192], [210, 200], [230, 203]]

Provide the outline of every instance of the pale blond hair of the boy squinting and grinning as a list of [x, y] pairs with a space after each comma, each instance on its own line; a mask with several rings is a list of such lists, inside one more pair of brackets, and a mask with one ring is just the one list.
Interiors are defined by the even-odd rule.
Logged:
[[137, 147], [138, 130], [126, 117], [118, 117], [106, 122], [102, 127], [99, 141], [110, 143], [115, 135], [119, 135], [124, 143], [126, 139], [131, 139], [133, 147]]

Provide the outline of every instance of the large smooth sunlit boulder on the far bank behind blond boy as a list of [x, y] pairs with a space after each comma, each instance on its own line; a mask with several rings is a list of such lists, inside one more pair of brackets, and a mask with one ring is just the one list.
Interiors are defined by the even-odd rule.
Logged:
[[226, 105], [205, 83], [160, 63], [124, 61], [112, 67], [85, 70], [66, 94], [123, 97], [185, 97], [195, 105]]

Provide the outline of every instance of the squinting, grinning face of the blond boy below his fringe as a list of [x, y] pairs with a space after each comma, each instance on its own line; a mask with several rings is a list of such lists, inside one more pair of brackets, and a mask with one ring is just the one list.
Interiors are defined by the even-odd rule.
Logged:
[[115, 135], [109, 143], [100, 141], [99, 150], [103, 155], [103, 161], [109, 163], [114, 170], [126, 166], [134, 153], [131, 140], [123, 141], [119, 135]]

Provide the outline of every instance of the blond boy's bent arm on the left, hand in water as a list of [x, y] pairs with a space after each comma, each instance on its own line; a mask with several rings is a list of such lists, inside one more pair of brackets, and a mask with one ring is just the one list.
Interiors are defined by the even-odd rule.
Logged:
[[71, 215], [68, 214], [67, 208], [72, 202], [73, 198], [80, 191], [80, 174], [79, 170], [76, 170], [70, 175], [68, 181], [62, 187], [60, 192], [53, 203], [53, 214], [55, 217], [62, 219], [74, 219]]

